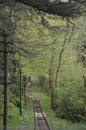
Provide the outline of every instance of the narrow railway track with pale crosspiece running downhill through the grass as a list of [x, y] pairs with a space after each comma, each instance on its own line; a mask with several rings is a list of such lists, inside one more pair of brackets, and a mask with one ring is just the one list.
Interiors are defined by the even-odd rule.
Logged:
[[34, 108], [34, 130], [50, 130], [45, 114], [41, 109], [40, 100], [33, 98], [32, 101]]

